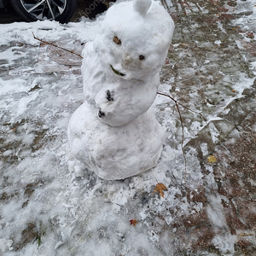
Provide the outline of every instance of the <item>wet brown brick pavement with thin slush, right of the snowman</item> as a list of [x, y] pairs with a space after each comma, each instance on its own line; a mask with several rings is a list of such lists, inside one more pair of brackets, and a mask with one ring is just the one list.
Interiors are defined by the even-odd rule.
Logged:
[[[215, 119], [185, 146], [196, 149], [203, 174], [201, 186], [186, 194], [188, 202], [201, 202], [203, 207], [200, 212], [176, 219], [177, 234], [185, 237], [181, 244], [189, 244], [198, 253], [195, 255], [200, 255], [200, 250], [229, 254], [214, 244], [218, 235], [223, 247], [229, 243], [227, 237], [236, 237], [235, 251], [230, 254], [254, 255], [256, 70], [252, 63], [256, 60], [256, 20], [255, 15], [254, 20], [247, 16], [255, 6], [248, 1], [213, 0], [168, 4], [173, 5], [169, 9], [176, 22], [172, 44], [178, 46], [169, 52], [171, 67], [163, 68], [163, 79], [172, 81], [170, 92], [179, 102]], [[244, 83], [248, 88], [242, 89]], [[191, 119], [195, 120], [191, 114], [184, 114], [186, 129]], [[209, 162], [211, 155], [215, 156], [213, 163]], [[210, 175], [214, 183], [209, 183]], [[222, 213], [211, 217], [209, 205]], [[214, 227], [213, 223], [222, 218], [225, 224]], [[193, 241], [189, 234], [195, 237]]]

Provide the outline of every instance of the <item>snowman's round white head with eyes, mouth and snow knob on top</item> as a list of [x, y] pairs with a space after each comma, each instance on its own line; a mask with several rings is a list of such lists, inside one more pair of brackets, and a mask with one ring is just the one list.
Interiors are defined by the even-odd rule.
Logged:
[[174, 23], [160, 3], [134, 0], [113, 5], [94, 40], [106, 73], [147, 80], [159, 73]]

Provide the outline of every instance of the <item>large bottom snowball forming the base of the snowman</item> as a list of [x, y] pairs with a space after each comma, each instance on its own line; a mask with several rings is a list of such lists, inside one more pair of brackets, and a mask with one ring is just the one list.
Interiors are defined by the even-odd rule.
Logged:
[[124, 179], [153, 168], [165, 141], [165, 131], [151, 108], [127, 125], [114, 127], [102, 124], [84, 102], [73, 113], [68, 131], [71, 153], [79, 165], [106, 180]]

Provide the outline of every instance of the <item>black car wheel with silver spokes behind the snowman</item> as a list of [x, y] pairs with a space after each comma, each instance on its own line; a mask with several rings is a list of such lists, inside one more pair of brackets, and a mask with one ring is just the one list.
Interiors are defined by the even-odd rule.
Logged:
[[77, 0], [10, 0], [15, 11], [26, 21], [57, 20], [67, 23]]

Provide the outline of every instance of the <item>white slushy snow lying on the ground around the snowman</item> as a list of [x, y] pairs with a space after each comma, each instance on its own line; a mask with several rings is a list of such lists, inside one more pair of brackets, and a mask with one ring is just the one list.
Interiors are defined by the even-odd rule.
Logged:
[[[189, 250], [195, 232], [187, 234], [184, 230], [185, 235], [180, 236], [179, 229], [184, 229], [183, 226], [173, 225], [195, 211], [201, 212], [204, 207], [202, 203], [188, 202], [184, 192], [198, 186], [209, 189], [209, 193], [218, 190], [213, 167], [205, 166], [209, 173], [202, 173], [194, 148], [187, 148], [185, 153], [188, 170], [184, 187], [180, 122], [175, 103], [163, 96], [157, 96], [154, 102], [157, 119], [166, 130], [165, 148], [157, 166], [124, 181], [104, 181], [93, 172], [76, 177], [76, 172], [81, 170], [69, 155], [67, 125], [74, 111], [84, 102], [80, 66], [69, 67], [51, 61], [49, 47], [39, 44], [32, 32], [38, 38], [56, 44], [61, 44], [64, 39], [70, 44], [76, 41], [85, 43], [96, 37], [102, 20], [103, 15], [93, 22], [81, 20], [68, 25], [45, 20], [0, 27], [0, 129], [3, 145], [0, 153], [0, 254], [4, 256], [178, 255], [183, 249]], [[247, 22], [246, 17], [238, 21], [240, 24]], [[253, 27], [253, 23], [249, 25]], [[177, 51], [182, 43], [174, 44]], [[213, 57], [208, 58], [203, 56], [205, 65], [216, 61]], [[255, 62], [252, 66], [255, 72]], [[226, 82], [230, 82], [226, 71], [219, 72], [223, 77], [227, 76]], [[161, 76], [164, 77], [165, 73]], [[159, 90], [179, 91], [180, 94], [175, 95], [178, 99], [184, 90], [174, 82], [174, 79], [167, 78]], [[187, 141], [212, 120], [221, 119], [218, 114], [224, 113], [225, 108], [228, 112], [228, 104], [242, 96], [242, 90], [249, 88], [253, 79], [241, 75], [237, 83], [232, 84], [235, 84], [236, 95], [225, 95], [224, 102], [217, 102], [216, 107], [204, 107], [204, 113], [208, 112], [207, 122], [182, 110], [184, 124], [188, 126]], [[220, 86], [222, 84], [216, 85], [217, 90]], [[191, 85], [189, 91], [188, 105], [198, 107], [195, 86]], [[204, 96], [212, 96], [211, 91], [206, 85]], [[200, 102], [202, 100], [205, 98], [200, 98]], [[191, 119], [190, 123], [188, 119]], [[217, 141], [215, 128], [212, 126], [211, 135]], [[255, 126], [252, 129], [255, 131]], [[230, 142], [235, 143], [239, 132], [233, 130], [232, 136], [234, 140]], [[201, 145], [201, 151], [206, 157], [212, 153], [206, 143]], [[156, 183], [166, 185], [165, 198], [154, 193]], [[226, 223], [220, 200], [217, 195], [212, 195], [207, 213], [212, 226], [219, 232], [212, 242], [221, 253], [228, 255], [228, 252], [234, 252], [237, 236], [222, 236], [224, 230], [219, 223], [224, 226]], [[129, 222], [134, 218], [138, 221], [136, 227]], [[38, 240], [34, 241], [37, 236], [41, 236], [39, 247]], [[207, 252], [202, 255], [217, 254]]]

